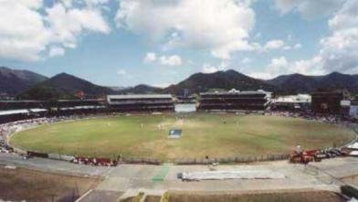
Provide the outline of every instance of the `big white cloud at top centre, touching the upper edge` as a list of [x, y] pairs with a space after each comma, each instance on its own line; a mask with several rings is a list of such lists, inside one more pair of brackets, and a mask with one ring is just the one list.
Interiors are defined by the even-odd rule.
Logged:
[[216, 58], [250, 50], [247, 42], [255, 13], [246, 0], [122, 0], [118, 27], [167, 46], [209, 50]]

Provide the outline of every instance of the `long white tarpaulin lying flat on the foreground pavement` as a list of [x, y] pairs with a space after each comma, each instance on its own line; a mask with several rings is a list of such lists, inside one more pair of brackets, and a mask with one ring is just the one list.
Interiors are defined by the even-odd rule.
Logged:
[[281, 179], [285, 177], [285, 175], [269, 170], [184, 172], [182, 176], [184, 180]]

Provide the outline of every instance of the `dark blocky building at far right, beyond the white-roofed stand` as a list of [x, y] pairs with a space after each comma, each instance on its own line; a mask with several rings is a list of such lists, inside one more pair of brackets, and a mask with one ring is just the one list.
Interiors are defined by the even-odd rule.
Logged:
[[317, 91], [311, 93], [314, 113], [348, 114], [350, 94], [347, 90]]

